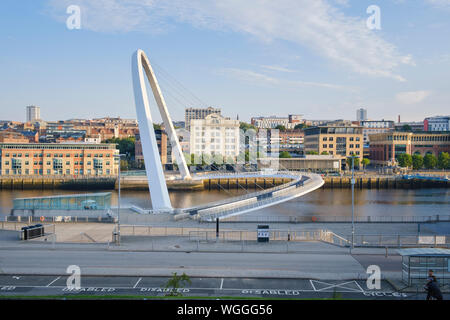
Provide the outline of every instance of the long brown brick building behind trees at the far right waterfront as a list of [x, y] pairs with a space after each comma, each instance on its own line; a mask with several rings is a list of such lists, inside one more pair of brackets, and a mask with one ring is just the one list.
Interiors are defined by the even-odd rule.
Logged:
[[410, 155], [450, 152], [450, 133], [386, 132], [369, 135], [370, 159], [378, 165], [392, 165], [402, 153]]

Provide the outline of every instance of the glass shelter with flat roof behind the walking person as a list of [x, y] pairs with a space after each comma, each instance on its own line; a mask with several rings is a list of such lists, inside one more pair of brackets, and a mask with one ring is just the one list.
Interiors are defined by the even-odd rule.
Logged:
[[450, 285], [450, 249], [400, 249], [402, 280], [408, 286], [424, 285], [428, 270], [433, 270], [441, 286]]

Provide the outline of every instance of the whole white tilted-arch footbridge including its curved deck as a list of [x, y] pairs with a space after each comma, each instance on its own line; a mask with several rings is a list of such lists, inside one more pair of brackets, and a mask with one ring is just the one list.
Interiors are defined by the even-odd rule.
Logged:
[[[228, 173], [228, 174], [206, 174], [191, 177], [182, 154], [182, 149], [176, 135], [172, 119], [166, 106], [166, 102], [159, 87], [156, 75], [153, 72], [150, 61], [142, 50], [137, 50], [131, 62], [134, 98], [136, 103], [136, 114], [138, 118], [139, 131], [142, 143], [142, 154], [144, 156], [147, 172], [148, 186], [152, 201], [152, 210], [139, 210], [148, 213], [172, 213], [176, 219], [194, 218], [212, 220], [218, 217], [238, 215], [265, 207], [273, 206], [320, 188], [324, 181], [316, 174], [291, 172], [291, 171], [265, 171], [253, 173]], [[232, 197], [224, 201], [208, 203], [192, 208], [174, 209], [170, 202], [169, 193], [165, 181], [161, 158], [158, 151], [153, 120], [150, 112], [147, 89], [145, 85], [147, 77], [156, 104], [158, 106], [165, 130], [168, 134], [172, 150], [180, 171], [181, 179], [197, 180], [208, 178], [288, 178], [290, 182], [260, 192], [248, 193], [240, 197]]]

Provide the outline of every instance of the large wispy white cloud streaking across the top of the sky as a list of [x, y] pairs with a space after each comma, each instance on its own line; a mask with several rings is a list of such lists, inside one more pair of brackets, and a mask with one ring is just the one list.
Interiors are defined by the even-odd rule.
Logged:
[[[404, 81], [396, 73], [412, 58], [377, 32], [364, 18], [345, 15], [333, 4], [342, 0], [50, 0], [54, 16], [63, 20], [65, 8], [78, 4], [82, 28], [101, 32], [164, 32], [168, 20], [198, 28], [234, 31], [265, 42], [288, 41], [360, 74]], [[169, 19], [168, 19], [169, 18]]]

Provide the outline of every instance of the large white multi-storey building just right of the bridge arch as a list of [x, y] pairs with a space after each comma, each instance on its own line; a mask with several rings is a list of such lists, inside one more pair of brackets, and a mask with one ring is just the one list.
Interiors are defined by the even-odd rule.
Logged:
[[190, 151], [196, 155], [239, 155], [239, 120], [219, 114], [191, 120]]

